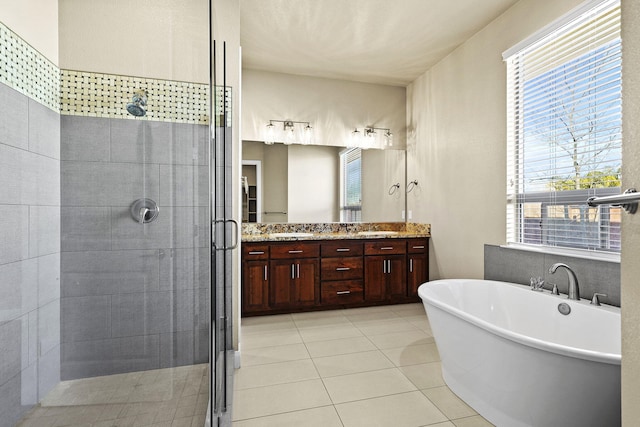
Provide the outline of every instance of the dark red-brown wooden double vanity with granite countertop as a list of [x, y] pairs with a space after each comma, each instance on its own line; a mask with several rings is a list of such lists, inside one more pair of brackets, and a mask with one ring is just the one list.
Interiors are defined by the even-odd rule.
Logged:
[[245, 235], [242, 315], [418, 302], [428, 238], [428, 228]]

